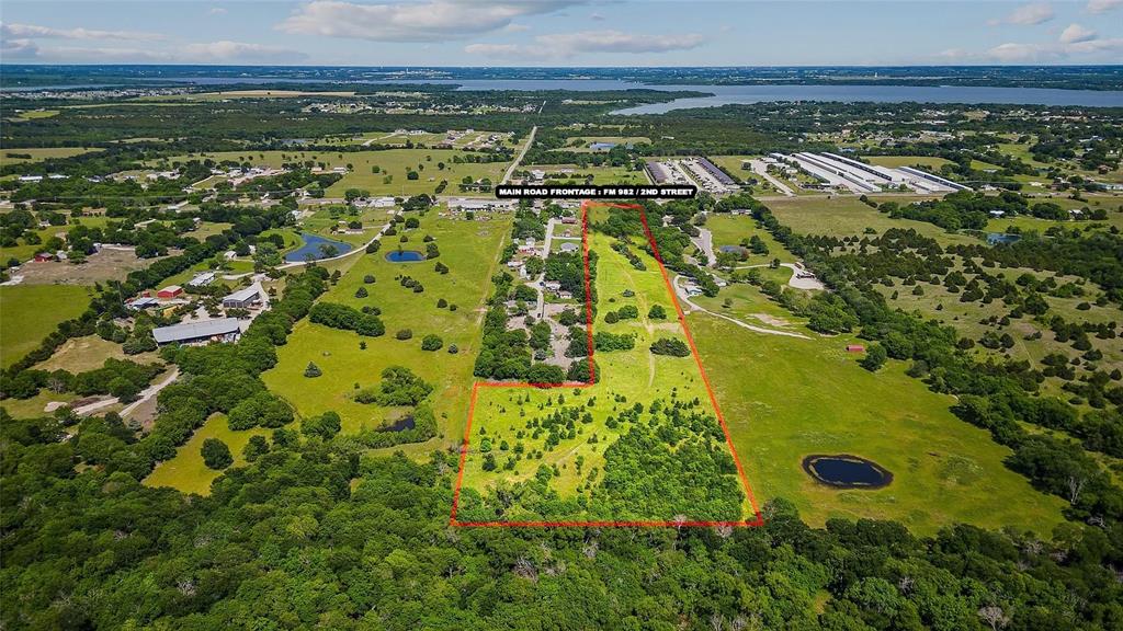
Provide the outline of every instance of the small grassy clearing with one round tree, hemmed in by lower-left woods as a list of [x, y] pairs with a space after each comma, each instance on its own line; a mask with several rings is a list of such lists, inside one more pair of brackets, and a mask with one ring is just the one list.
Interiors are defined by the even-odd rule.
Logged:
[[182, 493], [210, 495], [210, 485], [222, 472], [209, 468], [203, 463], [202, 446], [208, 438], [217, 438], [226, 442], [234, 456], [232, 467], [243, 466], [246, 459], [241, 450], [246, 448], [250, 437], [271, 436], [273, 430], [254, 428], [249, 430], [231, 430], [226, 414], [212, 414], [203, 427], [199, 428], [191, 439], [175, 451], [175, 457], [156, 465], [152, 474], [145, 478], [148, 486], [171, 486]]

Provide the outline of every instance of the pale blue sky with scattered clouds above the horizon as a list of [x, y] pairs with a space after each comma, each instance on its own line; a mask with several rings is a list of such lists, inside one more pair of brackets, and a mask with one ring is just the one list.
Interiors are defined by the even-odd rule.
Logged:
[[1123, 0], [6, 0], [6, 63], [1123, 63]]

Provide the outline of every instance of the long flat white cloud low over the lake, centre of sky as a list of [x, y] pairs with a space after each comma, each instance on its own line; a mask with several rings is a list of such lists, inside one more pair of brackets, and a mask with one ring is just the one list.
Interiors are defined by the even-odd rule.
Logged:
[[583, 53], [668, 53], [688, 51], [705, 42], [696, 33], [645, 35], [619, 30], [583, 30], [539, 35], [532, 44], [469, 44], [466, 53], [500, 58], [568, 58]]

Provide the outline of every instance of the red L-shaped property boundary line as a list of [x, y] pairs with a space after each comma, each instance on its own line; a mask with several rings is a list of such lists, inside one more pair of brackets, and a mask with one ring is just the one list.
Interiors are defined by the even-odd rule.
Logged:
[[[667, 286], [667, 293], [670, 295], [670, 302], [675, 305], [675, 312], [678, 314], [678, 322], [683, 327], [683, 332], [686, 333], [686, 341], [691, 347], [691, 353], [694, 355], [694, 362], [697, 364], [699, 372], [702, 374], [702, 382], [705, 385], [706, 394], [710, 396], [710, 403], [713, 405], [714, 412], [718, 414], [718, 422], [721, 423], [721, 431], [725, 435], [725, 443], [729, 446], [730, 454], [733, 455], [733, 464], [737, 465], [737, 474], [741, 479], [741, 485], [745, 487], [745, 492], [749, 497], [749, 503], [752, 506], [752, 513], [756, 516], [752, 521], [673, 521], [673, 520], [650, 520], [650, 521], [460, 521], [456, 519], [456, 512], [459, 507], [460, 501], [460, 486], [464, 484], [464, 467], [468, 457], [468, 442], [472, 438], [472, 420], [475, 417], [476, 411], [476, 395], [482, 387], [532, 387], [532, 388], [557, 388], [557, 387], [590, 387], [596, 383], [596, 368], [593, 365], [593, 293], [591, 287], [590, 274], [588, 274], [588, 208], [591, 205], [608, 205], [613, 208], [624, 208], [633, 209], [639, 211], [640, 221], [643, 223], [643, 234], [647, 237], [648, 244], [651, 245], [651, 252], [655, 255], [655, 260], [659, 265], [659, 273], [663, 274], [663, 282]], [[475, 382], [472, 385], [472, 401], [468, 404], [468, 422], [464, 428], [464, 442], [460, 445], [460, 467], [456, 475], [456, 487], [453, 491], [453, 512], [448, 518], [449, 525], [454, 527], [499, 527], [499, 528], [518, 528], [518, 527], [529, 527], [529, 528], [559, 528], [559, 527], [587, 527], [587, 528], [620, 528], [620, 527], [655, 527], [655, 528], [666, 528], [666, 527], [756, 527], [764, 525], [765, 520], [760, 514], [760, 509], [757, 507], [757, 500], [752, 495], [752, 487], [749, 486], [749, 478], [745, 475], [745, 466], [741, 465], [741, 458], [737, 455], [737, 448], [733, 447], [733, 439], [729, 433], [729, 426], [725, 424], [725, 417], [721, 413], [721, 408], [718, 405], [718, 397], [713, 393], [713, 386], [710, 384], [710, 376], [705, 372], [705, 367], [702, 365], [702, 356], [699, 354], [697, 347], [694, 345], [694, 336], [691, 335], [691, 329], [686, 324], [686, 314], [683, 313], [683, 308], [678, 303], [678, 296], [675, 293], [674, 286], [670, 284], [670, 276], [667, 275], [667, 268], [663, 265], [663, 256], [659, 255], [659, 248], [655, 243], [655, 237], [651, 235], [651, 228], [647, 222], [647, 213], [643, 212], [643, 207], [638, 204], [618, 204], [608, 202], [593, 202], [585, 201], [581, 204], [581, 241], [582, 241], [582, 256], [585, 265], [585, 332], [588, 344], [588, 381], [587, 382], [564, 382], [564, 383], [513, 383], [513, 382]]]

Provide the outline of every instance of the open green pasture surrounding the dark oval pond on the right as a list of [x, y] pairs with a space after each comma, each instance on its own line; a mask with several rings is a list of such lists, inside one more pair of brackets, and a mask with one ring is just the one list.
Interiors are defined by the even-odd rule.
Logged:
[[[949, 411], [891, 360], [877, 374], [848, 354], [852, 336], [792, 339], [756, 333], [704, 313], [694, 339], [756, 497], [784, 497], [813, 525], [827, 519], [898, 520], [917, 533], [966, 522], [1047, 536], [1065, 503], [1006, 469], [1011, 451]], [[889, 469], [880, 490], [840, 491], [801, 466], [812, 454], [851, 454]]]

